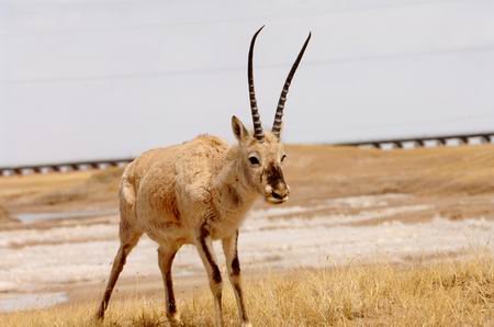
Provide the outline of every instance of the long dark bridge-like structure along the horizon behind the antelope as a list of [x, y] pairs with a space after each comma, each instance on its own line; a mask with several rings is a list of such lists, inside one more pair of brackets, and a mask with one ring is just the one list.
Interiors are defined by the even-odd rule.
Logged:
[[[438, 146], [463, 146], [493, 143], [494, 132], [458, 134], [458, 135], [436, 135], [404, 138], [367, 139], [348, 143], [335, 143], [335, 146], [357, 146], [379, 149], [411, 149], [418, 147]], [[133, 158], [104, 159], [78, 162], [59, 162], [49, 165], [32, 165], [0, 167], [0, 177], [14, 174], [32, 174], [48, 172], [66, 172], [74, 170], [105, 169], [109, 167], [123, 167]]]

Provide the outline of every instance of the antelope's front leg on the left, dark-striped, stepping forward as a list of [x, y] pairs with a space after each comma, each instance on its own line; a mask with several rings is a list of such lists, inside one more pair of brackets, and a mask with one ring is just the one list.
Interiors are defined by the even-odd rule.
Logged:
[[195, 247], [201, 256], [202, 263], [210, 278], [210, 287], [214, 297], [214, 309], [216, 315], [216, 326], [223, 326], [222, 313], [222, 275], [216, 264], [216, 257], [214, 256], [213, 241], [210, 230], [206, 226], [202, 226], [195, 236]]

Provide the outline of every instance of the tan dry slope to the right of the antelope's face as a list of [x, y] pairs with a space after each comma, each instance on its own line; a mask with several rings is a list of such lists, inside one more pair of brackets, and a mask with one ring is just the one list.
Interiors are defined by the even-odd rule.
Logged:
[[324, 182], [325, 195], [494, 193], [494, 145], [393, 151], [303, 145], [288, 153], [287, 176], [300, 187]]

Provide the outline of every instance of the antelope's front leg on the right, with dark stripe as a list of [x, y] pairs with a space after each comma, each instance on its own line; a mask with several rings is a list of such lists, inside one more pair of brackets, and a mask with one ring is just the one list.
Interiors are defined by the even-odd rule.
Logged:
[[235, 293], [235, 300], [237, 301], [238, 316], [240, 317], [240, 324], [244, 327], [250, 326], [249, 318], [245, 311], [244, 295], [242, 293], [240, 284], [240, 262], [238, 261], [238, 230], [228, 238], [222, 240], [223, 251], [226, 258], [226, 268], [228, 270], [228, 279], [232, 283]]

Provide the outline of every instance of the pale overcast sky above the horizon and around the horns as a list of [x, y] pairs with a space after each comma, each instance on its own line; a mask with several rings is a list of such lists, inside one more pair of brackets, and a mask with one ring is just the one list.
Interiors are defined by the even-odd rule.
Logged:
[[0, 0], [0, 166], [135, 156], [266, 128], [308, 31], [284, 139], [494, 131], [491, 0]]

